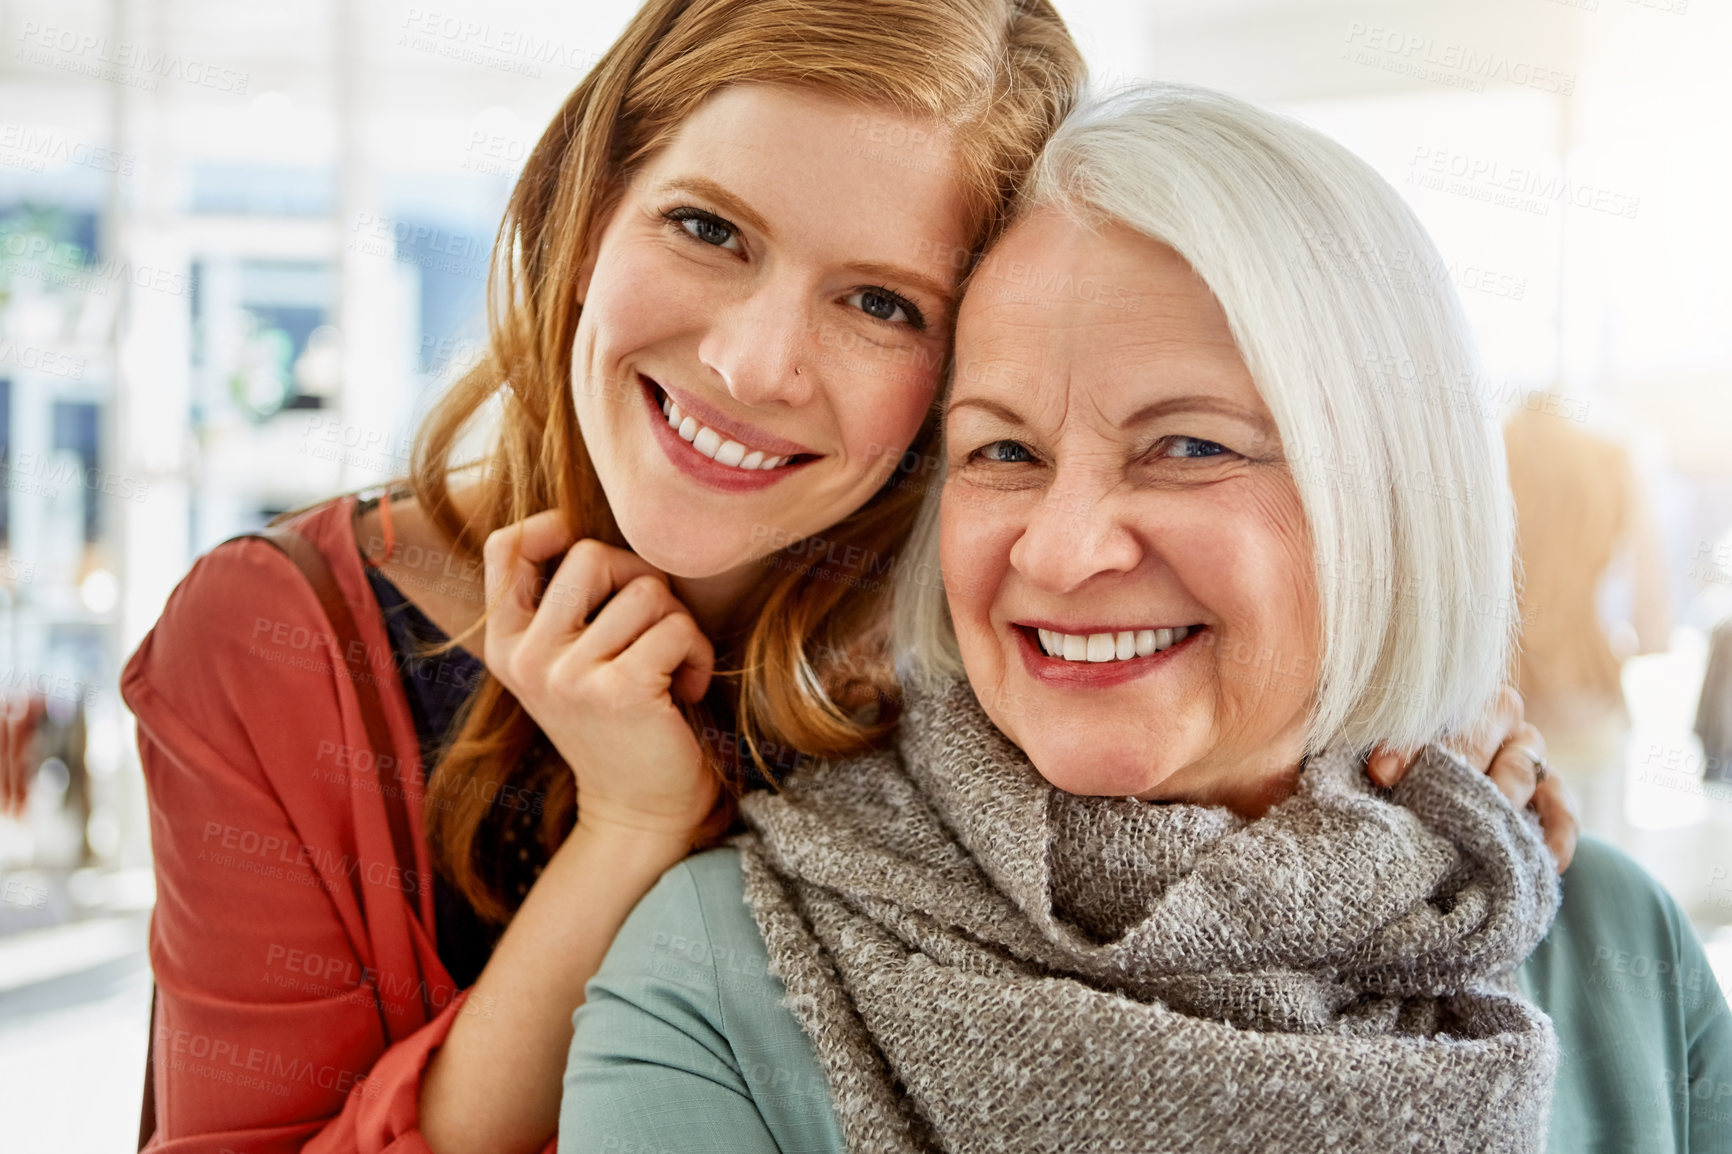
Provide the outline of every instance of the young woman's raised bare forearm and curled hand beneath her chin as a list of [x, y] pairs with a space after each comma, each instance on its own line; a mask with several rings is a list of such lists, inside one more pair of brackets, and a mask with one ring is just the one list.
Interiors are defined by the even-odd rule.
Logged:
[[481, 558], [494, 605], [481, 658], [572, 766], [577, 827], [469, 989], [488, 1012], [459, 1014], [428, 1062], [419, 1125], [435, 1154], [532, 1154], [559, 1123], [584, 982], [715, 806], [721, 785], [681, 714], [715, 652], [663, 574], [575, 541], [559, 509], [490, 534]]

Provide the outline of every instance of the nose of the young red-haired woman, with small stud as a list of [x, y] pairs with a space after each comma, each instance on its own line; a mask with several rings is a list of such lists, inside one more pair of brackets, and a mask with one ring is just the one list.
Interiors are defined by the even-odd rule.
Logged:
[[793, 282], [760, 281], [717, 308], [698, 343], [698, 360], [745, 405], [802, 405], [812, 399], [818, 364], [809, 353], [805, 295]]

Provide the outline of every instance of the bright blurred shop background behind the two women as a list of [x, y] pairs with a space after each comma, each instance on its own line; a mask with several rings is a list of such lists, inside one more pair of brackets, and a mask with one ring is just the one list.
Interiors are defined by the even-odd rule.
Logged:
[[[1509, 419], [1529, 716], [1732, 984], [1732, 12], [1058, 0], [1096, 80], [1375, 165]], [[132, 1149], [149, 837], [120, 667], [192, 560], [407, 468], [499, 215], [627, 0], [0, 0], [0, 1133]], [[1403, 262], [1393, 260], [1393, 265]], [[1718, 634], [1716, 634], [1718, 629]]]

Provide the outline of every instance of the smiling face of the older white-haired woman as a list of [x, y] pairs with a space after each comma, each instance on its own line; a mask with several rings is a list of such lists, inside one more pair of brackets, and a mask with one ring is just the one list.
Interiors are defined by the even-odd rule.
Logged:
[[[1011, 267], [1039, 276], [1005, 289]], [[1261, 811], [1304, 750], [1318, 598], [1219, 303], [1166, 244], [1041, 211], [956, 340], [942, 563], [987, 714], [1060, 788]]]

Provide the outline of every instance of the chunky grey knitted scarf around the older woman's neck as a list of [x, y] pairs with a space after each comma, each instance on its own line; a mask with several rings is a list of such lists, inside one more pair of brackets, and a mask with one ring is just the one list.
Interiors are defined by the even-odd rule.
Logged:
[[1429, 749], [1257, 821], [1048, 785], [966, 684], [743, 801], [746, 903], [856, 1154], [1540, 1151], [1557, 910], [1531, 818]]

